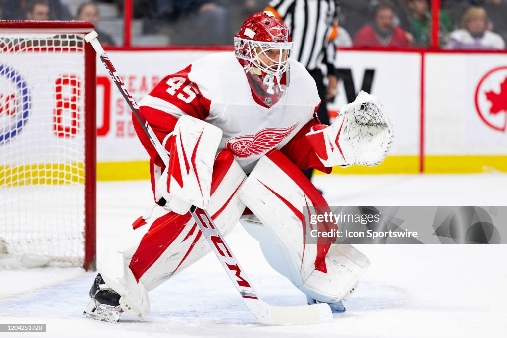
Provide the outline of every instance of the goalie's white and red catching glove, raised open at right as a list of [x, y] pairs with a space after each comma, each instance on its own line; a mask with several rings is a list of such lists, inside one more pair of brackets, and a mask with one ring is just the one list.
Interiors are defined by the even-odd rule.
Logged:
[[316, 125], [306, 134], [326, 167], [377, 166], [392, 142], [392, 125], [377, 98], [361, 91], [345, 105], [331, 126]]

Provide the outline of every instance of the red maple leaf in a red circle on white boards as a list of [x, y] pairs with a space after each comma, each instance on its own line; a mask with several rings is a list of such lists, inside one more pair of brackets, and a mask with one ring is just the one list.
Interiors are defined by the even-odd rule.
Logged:
[[475, 95], [481, 120], [490, 128], [505, 131], [507, 126], [507, 66], [488, 71], [479, 81]]

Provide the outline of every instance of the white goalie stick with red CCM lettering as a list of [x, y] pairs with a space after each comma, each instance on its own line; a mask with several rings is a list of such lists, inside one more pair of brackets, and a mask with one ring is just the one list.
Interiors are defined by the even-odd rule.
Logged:
[[[120, 78], [118, 72], [111, 63], [111, 60], [105, 54], [104, 49], [97, 40], [97, 33], [92, 31], [86, 34], [85, 40], [92, 45], [95, 52], [99, 55], [100, 60], [127, 101], [130, 109], [132, 109], [132, 113], [141, 125], [142, 129], [153, 143], [164, 164], [166, 166], [169, 165], [169, 156], [165, 151], [165, 148], [162, 146], [159, 139], [153, 132], [153, 129], [146, 121], [146, 118], [142, 115], [142, 112], [132, 97], [132, 94], [130, 94], [127, 86]], [[209, 216], [208, 212], [196, 206], [192, 206], [190, 208], [190, 213], [198, 224], [199, 229], [209, 242], [209, 245], [216, 254], [216, 257], [219, 258], [224, 269], [231, 278], [231, 281], [236, 286], [236, 289], [243, 297], [246, 306], [261, 323], [271, 325], [315, 324], [328, 321], [333, 318], [331, 308], [327, 304], [272, 306], [263, 302], [257, 295], [257, 292], [253, 288], [248, 277], [239, 266], [237, 259], [225, 242], [220, 231], [216, 228], [213, 219]]]

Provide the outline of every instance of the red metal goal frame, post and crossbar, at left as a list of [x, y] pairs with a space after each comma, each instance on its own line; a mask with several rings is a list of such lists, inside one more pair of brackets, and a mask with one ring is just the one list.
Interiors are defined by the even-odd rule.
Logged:
[[[7, 33], [77, 33], [94, 30], [84, 21], [0, 21], [0, 30]], [[83, 40], [84, 41], [84, 40]], [[84, 126], [85, 126], [85, 232], [84, 261], [86, 271], [96, 268], [96, 55], [90, 44], [84, 45]]]

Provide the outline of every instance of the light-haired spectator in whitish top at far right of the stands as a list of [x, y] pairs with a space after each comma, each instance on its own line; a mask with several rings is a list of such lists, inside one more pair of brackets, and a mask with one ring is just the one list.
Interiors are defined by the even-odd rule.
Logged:
[[505, 42], [497, 33], [487, 30], [488, 17], [480, 7], [470, 7], [462, 18], [461, 29], [449, 34], [447, 49], [502, 50]]

